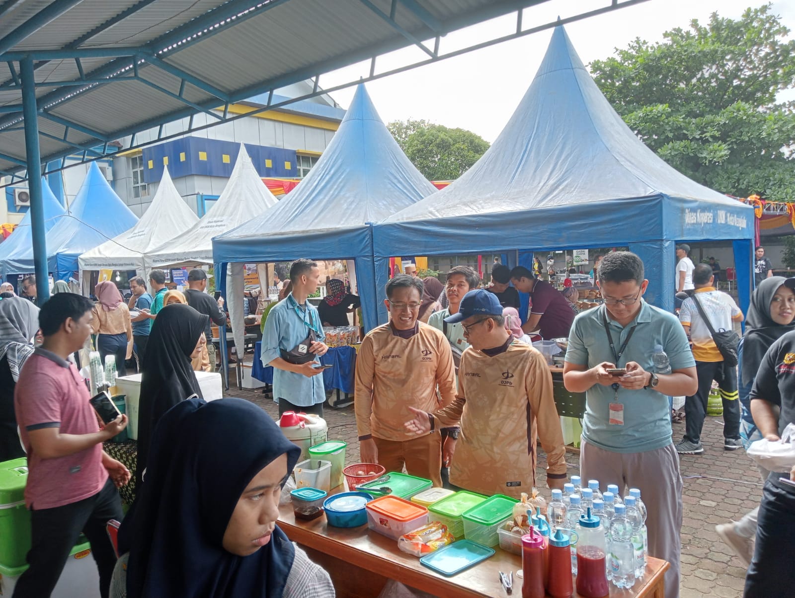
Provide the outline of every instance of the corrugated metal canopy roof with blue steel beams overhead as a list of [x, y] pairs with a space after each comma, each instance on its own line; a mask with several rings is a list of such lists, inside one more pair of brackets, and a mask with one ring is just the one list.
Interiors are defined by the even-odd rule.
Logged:
[[[563, 22], [645, 1], [601, 0]], [[320, 74], [363, 60], [372, 61], [365, 80], [386, 76], [375, 57], [405, 46], [425, 53], [395, 70], [545, 29], [554, 24], [522, 26], [524, 9], [544, 2], [0, 0], [0, 174], [25, 170], [21, 60], [33, 60], [42, 161], [91, 160], [137, 147], [135, 134], [154, 126], [165, 138], [165, 122], [199, 111], [213, 123], [242, 118], [229, 104], [299, 80], [315, 80], [312, 94], [260, 111], [328, 92]], [[446, 33], [513, 12], [515, 33], [440, 52]], [[183, 134], [191, 130], [192, 120]]]

